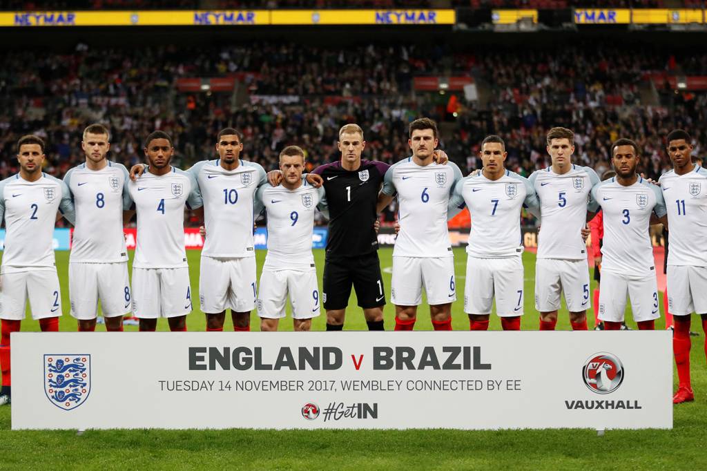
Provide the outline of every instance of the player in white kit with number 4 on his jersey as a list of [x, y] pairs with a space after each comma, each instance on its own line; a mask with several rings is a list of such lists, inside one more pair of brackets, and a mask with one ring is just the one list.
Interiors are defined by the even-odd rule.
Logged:
[[137, 211], [133, 261], [133, 310], [140, 331], [154, 331], [158, 318], [170, 330], [187, 330], [192, 311], [189, 265], [184, 247], [184, 210], [201, 199], [192, 175], [170, 165], [174, 146], [169, 134], [155, 131], [145, 140], [147, 171], [128, 189]]

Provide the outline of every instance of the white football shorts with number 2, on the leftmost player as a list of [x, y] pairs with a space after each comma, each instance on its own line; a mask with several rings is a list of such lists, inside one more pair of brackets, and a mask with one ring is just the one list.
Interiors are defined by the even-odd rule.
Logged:
[[34, 320], [62, 315], [62, 289], [56, 269], [28, 269], [0, 277], [0, 319], [23, 320], [27, 298]]

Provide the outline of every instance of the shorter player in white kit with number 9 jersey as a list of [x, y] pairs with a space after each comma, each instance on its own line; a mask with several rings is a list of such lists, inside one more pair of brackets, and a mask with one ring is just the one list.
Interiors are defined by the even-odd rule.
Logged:
[[280, 153], [282, 183], [259, 187], [255, 197], [255, 213], [263, 207], [267, 211], [267, 255], [257, 299], [262, 331], [277, 330], [288, 294], [295, 331], [311, 330], [312, 318], [320, 314], [312, 232], [315, 209], [325, 193], [302, 178], [304, 165], [304, 151], [287, 146]]

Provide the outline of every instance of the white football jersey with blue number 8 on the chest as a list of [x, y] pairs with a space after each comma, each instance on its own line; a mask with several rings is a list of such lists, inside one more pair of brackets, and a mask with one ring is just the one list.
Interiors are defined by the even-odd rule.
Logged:
[[123, 211], [132, 206], [127, 180], [124, 165], [111, 161], [101, 170], [82, 163], [66, 172], [64, 183], [76, 207], [70, 263], [127, 262]]

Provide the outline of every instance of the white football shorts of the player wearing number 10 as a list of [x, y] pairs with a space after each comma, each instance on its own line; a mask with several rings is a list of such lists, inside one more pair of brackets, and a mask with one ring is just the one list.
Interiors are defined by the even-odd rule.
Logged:
[[214, 258], [201, 256], [199, 301], [208, 314], [230, 308], [247, 313], [255, 308], [255, 257]]

